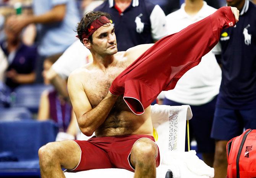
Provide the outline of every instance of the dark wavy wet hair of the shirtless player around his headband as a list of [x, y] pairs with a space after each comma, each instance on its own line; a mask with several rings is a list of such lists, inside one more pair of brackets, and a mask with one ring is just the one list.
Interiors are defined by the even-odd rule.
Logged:
[[[78, 23], [78, 26], [76, 28], [76, 32], [82, 43], [83, 43], [83, 34], [89, 34], [88, 29], [91, 27], [92, 22], [95, 21], [96, 19], [99, 19], [100, 21], [101, 16], [106, 16], [108, 19], [110, 19], [109, 13], [100, 12], [100, 11], [89, 11], [84, 14], [83, 18]], [[88, 37], [88, 40], [92, 43], [92, 35]]]

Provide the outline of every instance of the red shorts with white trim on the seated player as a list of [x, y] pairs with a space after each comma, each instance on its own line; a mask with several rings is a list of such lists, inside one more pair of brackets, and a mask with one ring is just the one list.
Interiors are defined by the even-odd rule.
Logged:
[[[73, 171], [123, 168], [134, 172], [129, 156], [133, 144], [141, 138], [155, 142], [150, 135], [126, 135], [115, 137], [92, 137], [88, 141], [74, 140], [81, 149], [80, 162]], [[157, 146], [157, 145], [156, 145]], [[157, 146], [156, 167], [160, 163], [159, 148]]]

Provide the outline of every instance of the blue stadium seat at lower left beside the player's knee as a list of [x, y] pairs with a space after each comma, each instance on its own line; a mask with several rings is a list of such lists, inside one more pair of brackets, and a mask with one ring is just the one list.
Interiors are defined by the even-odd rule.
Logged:
[[53, 121], [0, 121], [0, 177], [39, 175], [38, 149], [57, 133]]

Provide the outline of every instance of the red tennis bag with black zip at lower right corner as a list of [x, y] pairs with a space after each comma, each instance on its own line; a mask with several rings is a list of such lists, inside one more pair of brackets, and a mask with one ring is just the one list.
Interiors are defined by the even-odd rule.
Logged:
[[227, 178], [256, 178], [256, 130], [247, 129], [227, 144]]

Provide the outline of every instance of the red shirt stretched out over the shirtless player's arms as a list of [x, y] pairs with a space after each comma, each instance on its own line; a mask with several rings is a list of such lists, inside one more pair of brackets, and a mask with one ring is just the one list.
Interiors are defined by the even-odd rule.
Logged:
[[191, 24], [178, 33], [160, 39], [113, 81], [110, 92], [123, 95], [133, 113], [141, 115], [161, 91], [175, 87], [186, 71], [219, 41], [224, 28], [235, 26], [230, 7]]

